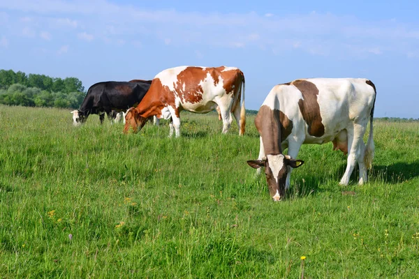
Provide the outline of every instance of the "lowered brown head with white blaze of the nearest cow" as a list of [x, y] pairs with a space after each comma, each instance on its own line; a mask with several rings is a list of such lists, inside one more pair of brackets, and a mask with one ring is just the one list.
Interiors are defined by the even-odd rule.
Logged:
[[291, 156], [282, 154], [269, 154], [262, 160], [249, 160], [249, 166], [258, 169], [265, 167], [267, 186], [269, 193], [275, 202], [285, 197], [285, 183], [288, 174], [288, 166], [297, 168], [304, 163], [302, 160], [295, 160]]

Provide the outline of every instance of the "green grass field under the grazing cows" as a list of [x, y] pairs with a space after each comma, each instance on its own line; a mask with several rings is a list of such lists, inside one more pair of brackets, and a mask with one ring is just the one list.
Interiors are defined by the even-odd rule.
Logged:
[[[272, 202], [254, 116], [182, 114], [123, 135], [98, 116], [0, 106], [0, 278], [419, 278], [419, 122], [375, 121], [369, 183], [302, 146]], [[306, 257], [304, 261], [300, 257]]]

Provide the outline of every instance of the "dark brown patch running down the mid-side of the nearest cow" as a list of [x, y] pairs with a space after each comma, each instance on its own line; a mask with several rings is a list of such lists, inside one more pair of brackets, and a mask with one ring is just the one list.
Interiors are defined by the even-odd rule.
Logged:
[[306, 121], [308, 132], [314, 137], [321, 137], [325, 134], [325, 126], [321, 123], [320, 106], [318, 105], [317, 96], [318, 88], [312, 82], [307, 80], [295, 80], [291, 84], [301, 91], [304, 99], [298, 100], [298, 106], [302, 118]]

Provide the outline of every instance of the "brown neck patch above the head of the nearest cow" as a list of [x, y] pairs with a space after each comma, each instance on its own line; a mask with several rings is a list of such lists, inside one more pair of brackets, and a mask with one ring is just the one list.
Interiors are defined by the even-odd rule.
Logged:
[[281, 116], [279, 110], [271, 110], [267, 105], [260, 107], [255, 126], [262, 137], [265, 154], [281, 154]]

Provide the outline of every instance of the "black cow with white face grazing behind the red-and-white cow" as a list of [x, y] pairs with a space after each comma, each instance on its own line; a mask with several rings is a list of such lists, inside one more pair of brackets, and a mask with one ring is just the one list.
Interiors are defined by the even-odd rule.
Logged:
[[98, 82], [90, 86], [79, 110], [73, 110], [73, 124], [84, 123], [89, 114], [99, 114], [103, 123], [105, 113], [112, 119], [112, 110], [124, 112], [140, 103], [147, 93], [151, 80], [131, 82]]

